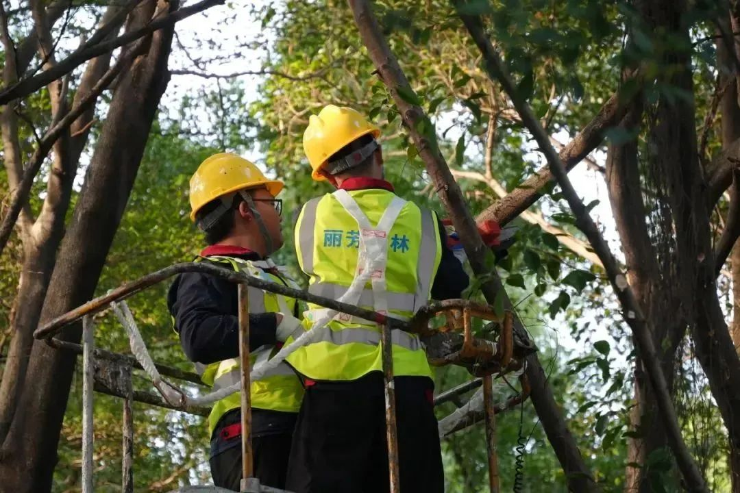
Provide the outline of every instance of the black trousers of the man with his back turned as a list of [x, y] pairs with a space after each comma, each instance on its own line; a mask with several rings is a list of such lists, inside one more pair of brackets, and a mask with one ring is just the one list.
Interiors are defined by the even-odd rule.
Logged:
[[[425, 377], [397, 377], [395, 386], [401, 491], [443, 493], [433, 384]], [[390, 490], [382, 374], [306, 387], [286, 489], [295, 493]]]

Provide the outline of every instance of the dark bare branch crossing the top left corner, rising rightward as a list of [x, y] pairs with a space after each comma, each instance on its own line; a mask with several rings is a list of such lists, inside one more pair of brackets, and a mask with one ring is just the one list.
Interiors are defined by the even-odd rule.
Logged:
[[23, 98], [24, 96], [41, 89], [41, 87], [49, 84], [51, 81], [60, 78], [62, 75], [71, 72], [91, 58], [103, 55], [106, 52], [112, 52], [112, 50], [115, 50], [116, 48], [130, 44], [156, 30], [169, 27], [170, 25], [175, 24], [175, 22], [182, 21], [185, 18], [201, 13], [203, 10], [215, 7], [216, 5], [221, 5], [225, 1], [226, 0], [201, 0], [189, 7], [183, 7], [182, 9], [175, 10], [175, 12], [172, 13], [162, 14], [144, 27], [120, 35], [118, 38], [111, 39], [110, 41], [103, 41], [103, 38], [110, 33], [111, 28], [108, 26], [101, 27], [101, 29], [98, 29], [98, 31], [92, 35], [90, 41], [87, 41], [83, 46], [72, 52], [70, 56], [60, 61], [52, 69], [44, 70], [44, 72], [33, 75], [29, 78], [24, 78], [18, 83], [13, 84], [13, 86], [6, 87], [0, 91], [0, 104], [7, 104], [14, 99]]

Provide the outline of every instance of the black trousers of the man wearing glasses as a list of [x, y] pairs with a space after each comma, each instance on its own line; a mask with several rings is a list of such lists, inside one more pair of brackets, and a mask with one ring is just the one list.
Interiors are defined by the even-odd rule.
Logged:
[[[285, 488], [291, 441], [292, 435], [289, 434], [252, 438], [255, 477], [261, 485]], [[238, 492], [241, 483], [241, 446], [232, 446], [214, 455], [209, 462], [215, 486]]]

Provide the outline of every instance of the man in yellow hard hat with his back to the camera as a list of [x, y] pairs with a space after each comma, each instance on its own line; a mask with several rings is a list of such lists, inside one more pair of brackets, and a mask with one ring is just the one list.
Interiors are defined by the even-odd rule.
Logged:
[[[295, 245], [311, 293], [409, 319], [430, 298], [459, 298], [468, 276], [436, 214], [383, 179], [379, 136], [353, 109], [329, 105], [310, 118], [303, 149], [312, 177], [337, 189], [303, 206]], [[287, 358], [306, 395], [286, 488], [388, 492], [380, 327], [310, 304], [306, 319], [313, 337]], [[442, 493], [431, 369], [416, 335], [394, 330], [392, 343], [401, 491]]]

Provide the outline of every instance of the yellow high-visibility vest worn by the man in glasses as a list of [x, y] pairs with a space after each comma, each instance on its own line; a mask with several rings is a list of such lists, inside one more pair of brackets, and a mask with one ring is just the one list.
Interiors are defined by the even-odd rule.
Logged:
[[[266, 261], [244, 260], [231, 256], [208, 256], [198, 257], [196, 262], [216, 262], [231, 266], [235, 271], [246, 273], [250, 276], [259, 277], [270, 282], [282, 284], [286, 282], [291, 288], [299, 287], [289, 277], [283, 279], [275, 274], [264, 271], [266, 268], [275, 268], [275, 264]], [[279, 269], [279, 268], [278, 268]], [[249, 286], [249, 313], [294, 313], [296, 300], [275, 293], [267, 293], [258, 288]], [[301, 329], [302, 330], [302, 329]], [[272, 345], [264, 345], [249, 353], [250, 367], [255, 364], [269, 360], [277, 353], [277, 348]], [[229, 387], [240, 381], [239, 358], [229, 358], [211, 364], [195, 363], [195, 370], [201, 376], [204, 384], [218, 390]], [[252, 407], [255, 409], [268, 409], [272, 411], [298, 412], [300, 401], [303, 399], [303, 386], [300, 380], [287, 364], [280, 363], [275, 369], [268, 370], [258, 380], [250, 382], [252, 392]], [[213, 404], [213, 409], [208, 416], [209, 434], [213, 434], [218, 420], [221, 416], [241, 405], [239, 392], [235, 392], [221, 401]]]

